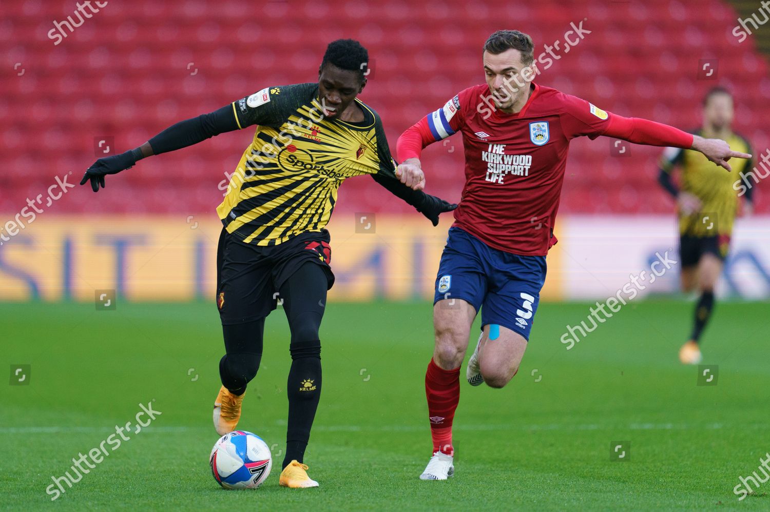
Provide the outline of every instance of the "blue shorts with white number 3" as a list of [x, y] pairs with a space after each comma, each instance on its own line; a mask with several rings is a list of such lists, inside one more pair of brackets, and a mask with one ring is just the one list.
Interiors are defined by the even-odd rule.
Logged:
[[493, 249], [463, 229], [449, 229], [436, 276], [434, 304], [462, 299], [481, 327], [500, 325], [529, 340], [545, 281], [545, 256], [518, 256]]

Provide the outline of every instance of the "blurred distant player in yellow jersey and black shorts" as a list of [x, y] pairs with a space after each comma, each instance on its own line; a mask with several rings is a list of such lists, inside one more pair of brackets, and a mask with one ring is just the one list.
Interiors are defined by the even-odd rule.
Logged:
[[[711, 89], [703, 99], [703, 126], [696, 132], [706, 138], [722, 139], [738, 152], [750, 153], [746, 139], [731, 129], [733, 99], [727, 89]], [[658, 181], [677, 202], [679, 217], [679, 257], [681, 287], [700, 293], [690, 340], [679, 350], [685, 364], [701, 362], [698, 345], [714, 309], [714, 286], [730, 248], [733, 221], [738, 211], [738, 193], [733, 187], [736, 176], [752, 169], [752, 159], [735, 159], [732, 172], [725, 172], [709, 162], [700, 152], [668, 148], [661, 159]], [[671, 181], [671, 172], [681, 169], [679, 187]], [[745, 192], [743, 209], [752, 212], [752, 189]]]

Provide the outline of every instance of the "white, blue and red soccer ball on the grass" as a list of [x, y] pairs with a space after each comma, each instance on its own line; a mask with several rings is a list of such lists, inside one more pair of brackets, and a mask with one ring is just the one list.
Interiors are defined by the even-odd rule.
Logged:
[[256, 489], [267, 480], [273, 457], [262, 438], [235, 430], [216, 442], [209, 465], [214, 479], [225, 489]]

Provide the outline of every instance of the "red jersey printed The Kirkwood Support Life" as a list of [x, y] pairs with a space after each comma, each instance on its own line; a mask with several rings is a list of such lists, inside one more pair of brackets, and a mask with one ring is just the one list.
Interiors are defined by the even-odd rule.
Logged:
[[436, 140], [462, 132], [465, 186], [455, 223], [488, 246], [545, 256], [559, 209], [570, 140], [595, 139], [611, 122], [609, 112], [584, 99], [534, 85], [521, 112], [490, 105], [489, 87], [475, 85], [427, 115]]

